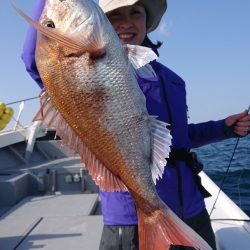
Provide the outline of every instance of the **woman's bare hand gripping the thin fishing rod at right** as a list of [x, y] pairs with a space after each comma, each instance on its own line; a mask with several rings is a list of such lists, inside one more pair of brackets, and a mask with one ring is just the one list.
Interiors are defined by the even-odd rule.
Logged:
[[225, 125], [232, 127], [238, 136], [246, 136], [250, 132], [250, 114], [245, 110], [242, 113], [231, 115], [225, 119]]

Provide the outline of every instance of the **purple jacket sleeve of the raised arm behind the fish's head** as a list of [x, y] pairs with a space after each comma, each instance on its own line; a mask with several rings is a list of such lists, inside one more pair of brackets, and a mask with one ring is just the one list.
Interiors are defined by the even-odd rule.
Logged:
[[[34, 20], [39, 20], [44, 8], [44, 4], [45, 0], [36, 0], [32, 11], [32, 17]], [[39, 87], [43, 88], [43, 83], [37, 70], [35, 61], [36, 37], [37, 31], [30, 25], [25, 37], [21, 58], [25, 64], [27, 72], [36, 81]]]

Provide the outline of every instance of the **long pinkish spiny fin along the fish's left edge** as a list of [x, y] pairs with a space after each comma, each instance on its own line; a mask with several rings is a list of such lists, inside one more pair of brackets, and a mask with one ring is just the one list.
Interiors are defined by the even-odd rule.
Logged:
[[54, 107], [45, 90], [40, 94], [40, 102], [40, 110], [33, 120], [40, 120], [41, 124], [45, 124], [47, 129], [51, 127], [56, 128], [56, 136], [61, 138], [61, 144], [67, 145], [69, 152], [73, 151], [75, 154], [78, 153], [80, 155], [81, 162], [85, 164], [86, 169], [99, 188], [109, 192], [128, 191], [123, 182], [113, 175], [81, 141], [79, 136]]

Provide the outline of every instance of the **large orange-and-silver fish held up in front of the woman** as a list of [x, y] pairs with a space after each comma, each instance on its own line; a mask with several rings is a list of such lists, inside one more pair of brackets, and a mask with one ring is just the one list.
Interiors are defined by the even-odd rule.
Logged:
[[137, 209], [140, 250], [211, 247], [159, 198], [155, 182], [169, 156], [167, 124], [150, 116], [137, 72], [153, 74], [151, 49], [123, 45], [90, 0], [46, 0], [36, 64], [45, 88], [35, 120], [80, 155], [102, 190], [129, 191]]

